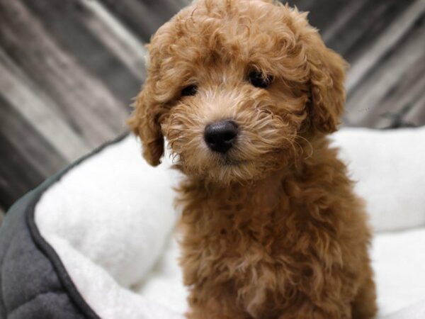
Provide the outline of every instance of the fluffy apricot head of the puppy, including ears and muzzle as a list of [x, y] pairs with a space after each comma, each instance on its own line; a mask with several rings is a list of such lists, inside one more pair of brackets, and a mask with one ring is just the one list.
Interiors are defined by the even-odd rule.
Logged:
[[186, 174], [259, 179], [339, 124], [345, 62], [296, 9], [199, 0], [159, 28], [148, 50], [129, 123], [152, 165], [165, 137]]

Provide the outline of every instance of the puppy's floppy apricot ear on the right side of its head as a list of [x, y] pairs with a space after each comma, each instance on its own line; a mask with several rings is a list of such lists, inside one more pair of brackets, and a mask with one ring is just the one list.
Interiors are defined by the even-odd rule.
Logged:
[[307, 63], [310, 69], [310, 123], [322, 133], [337, 130], [344, 111], [344, 59], [327, 48], [317, 30], [305, 35]]

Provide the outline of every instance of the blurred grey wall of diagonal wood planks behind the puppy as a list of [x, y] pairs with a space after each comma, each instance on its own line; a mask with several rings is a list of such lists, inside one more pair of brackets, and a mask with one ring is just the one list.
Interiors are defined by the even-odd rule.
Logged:
[[[125, 132], [143, 45], [188, 0], [0, 0], [0, 219]], [[425, 124], [425, 0], [293, 0], [351, 64], [344, 125]], [[425, 141], [424, 141], [425, 142]]]

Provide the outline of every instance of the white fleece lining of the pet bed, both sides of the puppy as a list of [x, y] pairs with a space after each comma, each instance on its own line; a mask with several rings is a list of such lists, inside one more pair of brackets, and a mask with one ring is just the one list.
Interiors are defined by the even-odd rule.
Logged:
[[[425, 159], [417, 156], [425, 157], [425, 129], [345, 129], [333, 138], [373, 212], [379, 318], [425, 318]], [[146, 164], [130, 135], [71, 169], [35, 208], [42, 237], [101, 318], [183, 318], [171, 235], [180, 176], [169, 167], [167, 158]]]

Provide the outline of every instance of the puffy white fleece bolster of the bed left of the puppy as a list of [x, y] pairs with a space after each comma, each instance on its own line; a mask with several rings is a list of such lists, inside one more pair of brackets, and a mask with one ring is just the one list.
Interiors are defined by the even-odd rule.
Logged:
[[177, 172], [151, 167], [130, 136], [82, 162], [40, 198], [35, 221], [129, 287], [152, 268], [177, 218]]

